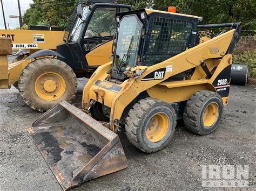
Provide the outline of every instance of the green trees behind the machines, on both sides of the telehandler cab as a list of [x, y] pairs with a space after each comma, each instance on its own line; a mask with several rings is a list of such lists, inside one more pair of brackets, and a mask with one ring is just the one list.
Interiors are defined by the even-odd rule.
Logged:
[[[33, 2], [23, 16], [24, 24], [36, 25], [40, 22], [65, 27], [79, 1], [33, 0]], [[133, 9], [150, 8], [166, 11], [169, 6], [176, 6], [177, 12], [203, 17], [204, 24], [240, 21], [244, 30], [256, 29], [255, 0], [120, 0], [119, 2], [132, 5]]]

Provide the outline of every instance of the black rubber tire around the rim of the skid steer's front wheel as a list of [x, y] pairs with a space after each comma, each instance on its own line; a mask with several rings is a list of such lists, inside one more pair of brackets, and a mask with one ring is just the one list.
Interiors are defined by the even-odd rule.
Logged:
[[[146, 125], [158, 112], [169, 118], [169, 130], [159, 142], [150, 142], [146, 137]], [[126, 117], [125, 133], [132, 145], [146, 153], [162, 150], [171, 140], [176, 128], [176, 114], [170, 104], [155, 98], [145, 98], [134, 104]]]

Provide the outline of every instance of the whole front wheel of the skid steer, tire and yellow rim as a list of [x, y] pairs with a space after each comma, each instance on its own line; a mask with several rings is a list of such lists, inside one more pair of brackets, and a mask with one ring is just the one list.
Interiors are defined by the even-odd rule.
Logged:
[[171, 105], [155, 98], [145, 98], [129, 111], [125, 133], [139, 150], [152, 153], [170, 142], [175, 128], [176, 114]]

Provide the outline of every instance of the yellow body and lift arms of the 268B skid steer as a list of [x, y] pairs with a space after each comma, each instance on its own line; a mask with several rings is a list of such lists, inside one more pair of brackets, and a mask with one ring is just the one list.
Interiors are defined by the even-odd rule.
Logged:
[[[107, 74], [107, 71], [112, 68], [112, 62], [100, 66], [84, 88], [82, 107], [88, 109], [90, 101], [95, 100], [111, 108], [110, 124], [111, 130], [114, 130], [113, 122], [120, 120], [127, 105], [143, 91], [147, 91], [150, 97], [164, 100], [167, 103], [186, 101], [199, 90], [216, 92], [213, 81], [227, 66], [232, 64], [232, 55], [224, 56], [224, 54], [230, 46], [234, 32], [235, 30], [228, 31], [156, 65], [134, 67], [132, 71], [145, 70], [145, 72], [138, 79], [130, 77], [129, 80], [125, 80], [121, 84], [106, 81], [110, 75]], [[212, 47], [219, 51], [211, 53]], [[206, 74], [200, 66], [203, 61], [206, 61], [210, 71], [215, 69], [211, 79], [206, 79]], [[163, 79], [144, 80], [144, 77], [153, 71], [167, 67], [171, 67], [172, 71], [166, 72]], [[163, 82], [172, 75], [194, 67], [196, 70], [190, 80]], [[228, 97], [223, 97], [223, 104], [227, 103]]]

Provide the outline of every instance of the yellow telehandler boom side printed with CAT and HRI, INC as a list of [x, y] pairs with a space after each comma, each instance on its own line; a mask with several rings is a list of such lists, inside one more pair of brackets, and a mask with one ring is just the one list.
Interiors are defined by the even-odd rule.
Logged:
[[0, 37], [11, 38], [17, 49], [56, 49], [63, 35], [64, 31], [0, 30]]

